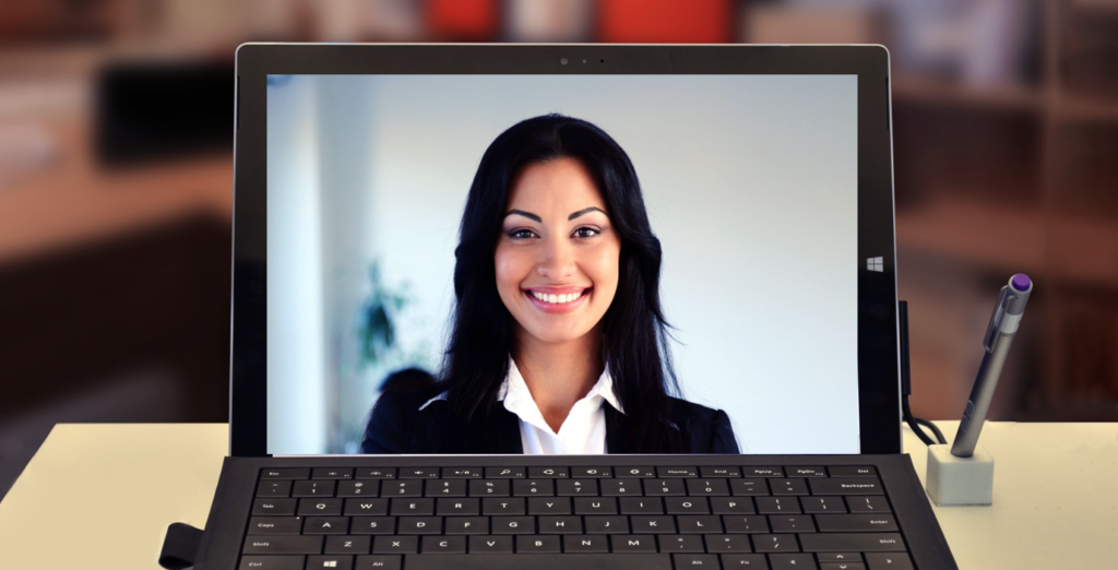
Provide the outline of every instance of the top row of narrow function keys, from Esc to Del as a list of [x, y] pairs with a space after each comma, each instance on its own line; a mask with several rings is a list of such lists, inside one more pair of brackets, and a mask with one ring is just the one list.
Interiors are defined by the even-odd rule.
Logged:
[[704, 467], [276, 467], [262, 479], [481, 479], [481, 478], [698, 478], [698, 477], [877, 477], [872, 466]]

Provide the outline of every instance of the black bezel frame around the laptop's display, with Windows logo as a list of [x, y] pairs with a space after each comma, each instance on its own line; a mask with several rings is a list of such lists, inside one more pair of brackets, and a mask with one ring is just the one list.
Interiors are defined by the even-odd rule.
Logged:
[[[598, 61], [589, 70], [561, 58]], [[577, 69], [577, 70], [576, 70]], [[268, 75], [856, 75], [862, 454], [901, 452], [889, 54], [882, 46], [246, 44], [237, 49], [229, 453], [267, 449]], [[883, 258], [882, 270], [866, 259]], [[804, 323], [804, 334], [812, 334]], [[793, 416], [789, 422], [797, 424]]]

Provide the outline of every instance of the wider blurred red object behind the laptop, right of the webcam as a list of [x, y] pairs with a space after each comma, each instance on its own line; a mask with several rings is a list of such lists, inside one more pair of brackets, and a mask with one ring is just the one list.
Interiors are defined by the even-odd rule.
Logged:
[[733, 37], [729, 0], [601, 0], [598, 35], [609, 44], [722, 44]]

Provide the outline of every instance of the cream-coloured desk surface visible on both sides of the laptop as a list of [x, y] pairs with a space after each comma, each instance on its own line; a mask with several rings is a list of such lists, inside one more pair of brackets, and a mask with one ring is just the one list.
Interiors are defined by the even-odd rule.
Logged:
[[[0, 568], [159, 568], [170, 523], [206, 524], [227, 445], [224, 424], [55, 426], [0, 503]], [[983, 445], [994, 505], [935, 507], [959, 568], [1114, 568], [1118, 424], [987, 424]]]

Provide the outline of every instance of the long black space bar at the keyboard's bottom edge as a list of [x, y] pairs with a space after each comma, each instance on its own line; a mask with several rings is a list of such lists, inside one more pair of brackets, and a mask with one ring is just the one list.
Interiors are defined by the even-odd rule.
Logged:
[[404, 570], [672, 570], [671, 554], [407, 554]]

